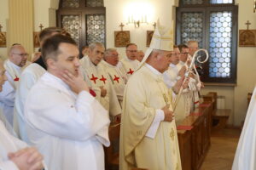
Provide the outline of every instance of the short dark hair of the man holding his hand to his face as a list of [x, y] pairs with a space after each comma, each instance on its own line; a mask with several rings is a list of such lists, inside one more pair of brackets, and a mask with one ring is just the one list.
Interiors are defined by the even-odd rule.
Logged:
[[70, 43], [77, 46], [77, 43], [71, 37], [63, 36], [61, 34], [49, 37], [44, 42], [42, 48], [42, 58], [45, 65], [47, 59], [57, 60], [58, 54], [61, 54], [61, 51], [59, 50], [59, 46], [61, 43]]

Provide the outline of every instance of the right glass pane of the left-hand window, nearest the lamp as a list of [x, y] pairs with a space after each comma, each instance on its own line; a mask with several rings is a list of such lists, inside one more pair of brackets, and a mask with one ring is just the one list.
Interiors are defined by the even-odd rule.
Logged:
[[87, 44], [102, 42], [105, 44], [105, 15], [88, 14], [86, 16]]

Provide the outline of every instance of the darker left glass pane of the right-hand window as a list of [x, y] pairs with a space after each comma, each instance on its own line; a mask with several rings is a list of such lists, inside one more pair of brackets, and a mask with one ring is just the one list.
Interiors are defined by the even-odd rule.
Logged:
[[202, 13], [183, 13], [182, 14], [182, 43], [187, 43], [189, 40], [199, 42], [202, 47], [202, 31], [203, 18]]

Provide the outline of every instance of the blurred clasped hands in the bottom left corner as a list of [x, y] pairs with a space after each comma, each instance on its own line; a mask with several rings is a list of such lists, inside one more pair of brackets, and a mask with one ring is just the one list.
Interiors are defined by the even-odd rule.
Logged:
[[37, 149], [27, 147], [14, 153], [9, 153], [9, 160], [13, 161], [20, 170], [43, 169], [43, 156]]

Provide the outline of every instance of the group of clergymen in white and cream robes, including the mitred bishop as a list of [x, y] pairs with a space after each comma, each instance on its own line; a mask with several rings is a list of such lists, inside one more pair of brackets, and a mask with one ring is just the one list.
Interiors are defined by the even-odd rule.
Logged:
[[79, 59], [67, 31], [49, 27], [32, 63], [12, 45], [0, 63], [0, 169], [102, 170], [110, 122], [121, 123], [120, 169], [182, 169], [176, 123], [199, 105], [203, 84], [189, 71], [198, 42], [172, 39], [158, 22], [145, 55], [130, 43], [119, 59], [93, 42]]

